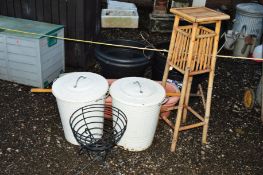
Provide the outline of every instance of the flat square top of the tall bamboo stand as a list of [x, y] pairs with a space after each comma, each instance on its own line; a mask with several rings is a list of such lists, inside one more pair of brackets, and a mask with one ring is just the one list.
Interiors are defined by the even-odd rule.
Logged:
[[192, 23], [210, 23], [230, 19], [229, 15], [206, 7], [171, 8], [170, 12]]

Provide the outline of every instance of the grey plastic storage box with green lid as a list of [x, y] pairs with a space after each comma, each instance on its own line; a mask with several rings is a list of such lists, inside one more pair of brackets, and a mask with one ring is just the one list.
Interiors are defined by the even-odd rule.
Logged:
[[[0, 16], [0, 27], [64, 37], [64, 27]], [[64, 41], [0, 29], [0, 79], [46, 87], [65, 70]]]

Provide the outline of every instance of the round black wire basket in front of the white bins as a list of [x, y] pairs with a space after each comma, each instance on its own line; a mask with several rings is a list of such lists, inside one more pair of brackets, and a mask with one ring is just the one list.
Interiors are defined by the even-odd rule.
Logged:
[[92, 104], [75, 111], [69, 123], [81, 150], [107, 152], [123, 136], [127, 117], [116, 107]]

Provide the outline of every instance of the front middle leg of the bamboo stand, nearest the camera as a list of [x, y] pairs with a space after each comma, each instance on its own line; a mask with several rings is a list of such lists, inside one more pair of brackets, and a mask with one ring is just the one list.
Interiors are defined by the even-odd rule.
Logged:
[[184, 80], [183, 80], [183, 88], [182, 88], [181, 98], [180, 98], [179, 107], [178, 107], [178, 111], [177, 111], [177, 118], [176, 118], [176, 123], [175, 123], [175, 127], [174, 127], [174, 135], [173, 135], [173, 140], [172, 140], [172, 145], [171, 145], [171, 151], [172, 152], [175, 151], [176, 143], [177, 143], [177, 139], [178, 139], [178, 132], [179, 132], [180, 124], [181, 124], [181, 118], [182, 118], [182, 112], [183, 112], [183, 107], [184, 107], [186, 89], [187, 89], [187, 85], [188, 85], [191, 60], [193, 57], [197, 27], [198, 27], [198, 24], [193, 23], [191, 42], [190, 42], [190, 46], [189, 46], [189, 54], [187, 57], [187, 65], [186, 65], [186, 70], [185, 70]]

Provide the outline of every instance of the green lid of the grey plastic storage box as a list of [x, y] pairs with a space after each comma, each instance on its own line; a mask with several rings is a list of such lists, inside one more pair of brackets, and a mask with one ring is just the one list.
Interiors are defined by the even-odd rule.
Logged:
[[[24, 32], [43, 34], [43, 35], [49, 35], [64, 28], [63, 25], [56, 25], [56, 24], [32, 21], [32, 20], [21, 19], [21, 18], [13, 18], [13, 17], [1, 16], [1, 15], [0, 15], [0, 27], [24, 31]], [[1, 33], [12, 34], [20, 37], [35, 38], [35, 39], [44, 37], [41, 35], [30, 35], [30, 34], [24, 34], [18, 32], [11, 32], [7, 30], [1, 30], [0, 28], [0, 34]]]

